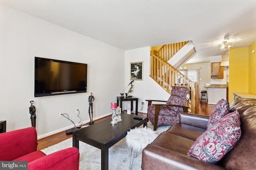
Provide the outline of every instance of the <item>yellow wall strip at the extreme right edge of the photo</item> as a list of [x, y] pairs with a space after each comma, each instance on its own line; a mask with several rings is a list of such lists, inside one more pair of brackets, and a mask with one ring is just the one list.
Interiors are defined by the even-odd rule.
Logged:
[[256, 51], [256, 41], [249, 46], [249, 83], [248, 92], [251, 94], [256, 94], [256, 53], [252, 53], [252, 50]]

